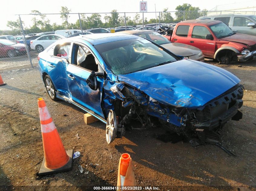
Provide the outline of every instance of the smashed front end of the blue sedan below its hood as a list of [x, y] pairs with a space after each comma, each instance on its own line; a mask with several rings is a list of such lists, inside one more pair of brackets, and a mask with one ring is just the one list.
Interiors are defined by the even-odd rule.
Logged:
[[[108, 88], [111, 91], [107, 91], [103, 99], [108, 100], [104, 108], [116, 113], [117, 136], [124, 134], [124, 126], [129, 128], [128, 124], [137, 120], [141, 123], [141, 128], [159, 124], [166, 126], [178, 135], [185, 135], [191, 140], [192, 146], [205, 142], [219, 144], [218, 130], [228, 120], [242, 118], [242, 113], [238, 110], [243, 105], [243, 86], [240, 84], [198, 108], [160, 103], [137, 88], [121, 82]], [[106, 93], [105, 88], [104, 90]], [[105, 112], [108, 113], [108, 111]], [[221, 145], [218, 146], [221, 147]]]

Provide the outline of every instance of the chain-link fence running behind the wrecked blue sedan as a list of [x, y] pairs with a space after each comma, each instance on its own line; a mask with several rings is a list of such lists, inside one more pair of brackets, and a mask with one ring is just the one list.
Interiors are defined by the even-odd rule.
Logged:
[[[0, 71], [38, 64], [38, 53], [62, 38], [122, 30], [157, 30], [159, 25], [214, 14], [255, 14], [255, 11], [165, 11], [17, 15], [8, 35], [0, 36]], [[154, 27], [154, 28], [152, 28]]]

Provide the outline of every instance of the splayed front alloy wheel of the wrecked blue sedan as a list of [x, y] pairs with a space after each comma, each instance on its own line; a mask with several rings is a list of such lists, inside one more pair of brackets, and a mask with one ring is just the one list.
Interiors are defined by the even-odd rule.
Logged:
[[116, 132], [117, 132], [116, 115], [113, 110], [110, 110], [108, 113], [108, 119], [106, 124], [106, 139], [108, 144], [115, 139]]

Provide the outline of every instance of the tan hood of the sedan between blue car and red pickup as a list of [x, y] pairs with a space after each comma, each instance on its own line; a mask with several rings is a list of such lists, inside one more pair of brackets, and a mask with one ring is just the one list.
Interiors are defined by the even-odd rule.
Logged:
[[190, 46], [188, 44], [182, 44], [182, 43], [168, 43], [168, 44], [162, 44], [161, 46], [170, 50], [172, 53], [178, 56], [191, 56], [191, 55], [199, 54], [201, 52], [200, 49], [194, 46]]

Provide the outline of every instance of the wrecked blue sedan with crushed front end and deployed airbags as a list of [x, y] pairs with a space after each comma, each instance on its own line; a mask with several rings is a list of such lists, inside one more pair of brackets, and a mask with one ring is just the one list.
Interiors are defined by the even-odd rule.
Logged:
[[242, 118], [243, 86], [236, 76], [134, 35], [59, 40], [39, 54], [39, 70], [52, 100], [106, 124], [108, 143], [135, 119], [142, 128], [167, 126], [193, 138], [194, 146], [216, 143], [219, 128]]

